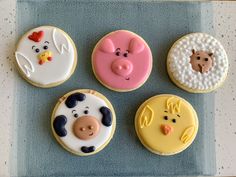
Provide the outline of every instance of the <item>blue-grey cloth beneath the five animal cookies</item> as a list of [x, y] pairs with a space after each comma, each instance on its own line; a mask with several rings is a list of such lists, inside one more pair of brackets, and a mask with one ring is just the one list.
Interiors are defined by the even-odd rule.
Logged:
[[[19, 176], [160, 176], [211, 175], [215, 173], [214, 95], [190, 94], [168, 78], [166, 56], [172, 43], [190, 32], [213, 33], [211, 3], [157, 1], [21, 0], [17, 2], [17, 32], [24, 34], [39, 25], [54, 25], [74, 39], [79, 65], [66, 83], [52, 89], [16, 83], [17, 161], [12, 171]], [[141, 35], [150, 45], [154, 65], [150, 78], [140, 89], [117, 93], [103, 87], [94, 77], [91, 53], [106, 33], [127, 29]], [[113, 103], [117, 129], [110, 144], [100, 153], [77, 157], [54, 139], [50, 115], [58, 98], [78, 89], [91, 88]], [[187, 99], [199, 116], [200, 129], [194, 143], [169, 157], [154, 155], [138, 140], [134, 115], [147, 98], [171, 93]], [[15, 174], [15, 173], [14, 173]]]

